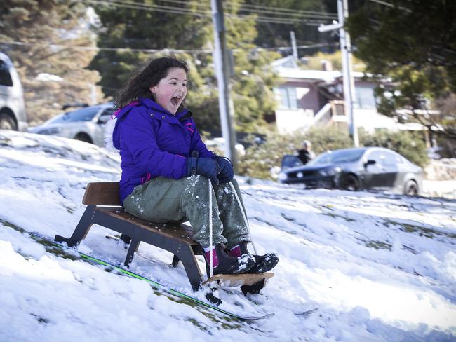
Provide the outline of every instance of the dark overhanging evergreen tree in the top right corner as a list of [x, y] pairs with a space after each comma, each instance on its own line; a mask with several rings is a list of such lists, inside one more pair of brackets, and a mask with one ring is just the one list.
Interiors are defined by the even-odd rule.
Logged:
[[[389, 3], [366, 1], [348, 22], [355, 53], [366, 62], [366, 70], [392, 80], [389, 87], [377, 89], [378, 109], [400, 120], [420, 122], [456, 142], [456, 109], [444, 111], [440, 106], [456, 93], [456, 3]], [[404, 108], [410, 114], [397, 111]], [[445, 114], [436, 116], [429, 109]]]

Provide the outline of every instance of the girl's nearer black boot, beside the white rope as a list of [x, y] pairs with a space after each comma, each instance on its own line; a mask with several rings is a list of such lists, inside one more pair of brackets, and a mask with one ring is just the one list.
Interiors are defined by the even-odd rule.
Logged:
[[[229, 257], [222, 244], [215, 245], [213, 249], [213, 275], [247, 273], [255, 265], [255, 258], [251, 254], [240, 257]], [[206, 259], [206, 273], [210, 273], [210, 252], [204, 252]]]

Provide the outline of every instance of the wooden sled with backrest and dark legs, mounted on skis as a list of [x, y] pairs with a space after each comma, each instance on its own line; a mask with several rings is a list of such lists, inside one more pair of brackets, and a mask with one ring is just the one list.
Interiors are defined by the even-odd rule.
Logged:
[[121, 240], [129, 243], [123, 264], [128, 267], [138, 250], [140, 242], [146, 242], [174, 254], [173, 266], [179, 261], [187, 273], [192, 289], [197, 291], [201, 285], [240, 286], [244, 294], [257, 293], [266, 285], [274, 273], [215, 275], [204, 280], [195, 255], [203, 255], [203, 249], [192, 238], [192, 228], [185, 224], [156, 224], [138, 219], [123, 211], [119, 200], [119, 182], [89, 183], [82, 200], [87, 205], [79, 224], [69, 238], [55, 235], [55, 241], [66, 242], [70, 247], [79, 245], [86, 238], [93, 224], [121, 233]]

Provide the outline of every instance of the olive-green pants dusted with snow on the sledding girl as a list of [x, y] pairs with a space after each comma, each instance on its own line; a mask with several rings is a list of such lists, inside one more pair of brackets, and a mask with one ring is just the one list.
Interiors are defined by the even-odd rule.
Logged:
[[250, 236], [241, 212], [246, 211], [239, 185], [235, 179], [231, 182], [242, 207], [239, 207], [229, 183], [209, 187], [209, 179], [199, 175], [181, 179], [154, 178], [136, 186], [123, 201], [123, 207], [135, 217], [156, 223], [188, 219], [194, 240], [207, 247], [209, 196], [212, 196], [213, 245], [222, 242], [232, 247], [250, 241]]

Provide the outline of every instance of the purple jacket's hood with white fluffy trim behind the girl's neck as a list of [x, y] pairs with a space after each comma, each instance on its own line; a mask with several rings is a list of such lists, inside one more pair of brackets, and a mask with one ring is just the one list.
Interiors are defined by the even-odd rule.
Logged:
[[154, 102], [154, 100], [147, 97], [140, 97], [138, 101], [133, 101], [127, 104], [125, 107], [116, 111], [111, 119], [107, 122], [105, 128], [105, 147], [108, 151], [120, 150], [120, 130], [119, 123], [127, 116], [131, 109], [144, 106], [147, 109], [154, 111], [156, 114], [166, 114], [170, 116], [175, 116], [178, 120], [183, 120], [192, 116], [192, 112], [187, 109], [182, 109], [182, 111], [176, 113], [175, 115], [171, 114], [169, 111], [161, 107], [159, 104]]

